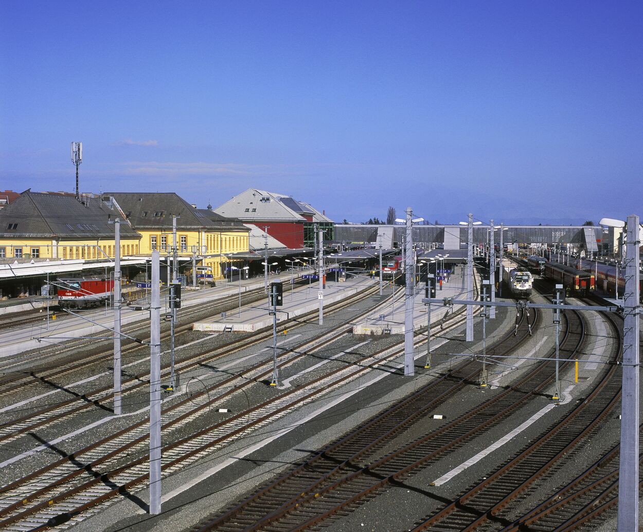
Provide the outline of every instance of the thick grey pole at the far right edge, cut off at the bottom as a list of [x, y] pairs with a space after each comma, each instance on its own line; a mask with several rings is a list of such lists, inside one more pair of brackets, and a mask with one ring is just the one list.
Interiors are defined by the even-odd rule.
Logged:
[[628, 216], [623, 295], [623, 376], [620, 403], [619, 531], [638, 530], [638, 216]]

